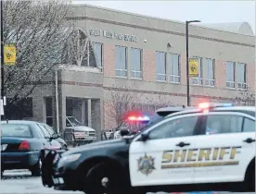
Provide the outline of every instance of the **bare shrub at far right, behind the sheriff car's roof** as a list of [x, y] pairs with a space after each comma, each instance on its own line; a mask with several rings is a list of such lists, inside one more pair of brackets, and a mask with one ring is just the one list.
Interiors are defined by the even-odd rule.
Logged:
[[235, 99], [237, 105], [255, 106], [255, 93], [251, 91], [241, 91], [240, 96]]

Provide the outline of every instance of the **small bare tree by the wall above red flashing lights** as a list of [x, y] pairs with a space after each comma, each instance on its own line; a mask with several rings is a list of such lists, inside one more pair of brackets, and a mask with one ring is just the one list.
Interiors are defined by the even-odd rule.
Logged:
[[116, 127], [121, 127], [125, 122], [123, 115], [133, 110], [134, 104], [137, 103], [137, 94], [129, 91], [110, 91], [109, 101], [107, 103], [106, 114], [113, 118]]

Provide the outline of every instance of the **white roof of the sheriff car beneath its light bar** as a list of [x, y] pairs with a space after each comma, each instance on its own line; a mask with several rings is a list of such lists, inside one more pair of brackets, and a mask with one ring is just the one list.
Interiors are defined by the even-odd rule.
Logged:
[[[255, 116], [255, 106], [230, 106], [230, 107], [216, 107], [216, 108], [211, 108], [209, 109], [210, 112], [221, 112], [221, 111], [229, 111], [229, 112], [253, 112]], [[184, 110], [184, 111], [179, 111], [170, 115], [169, 116], [174, 116], [174, 115], [186, 115], [186, 114], [193, 114], [193, 113], [200, 113], [201, 109], [194, 107], [193, 109], [190, 110]]]

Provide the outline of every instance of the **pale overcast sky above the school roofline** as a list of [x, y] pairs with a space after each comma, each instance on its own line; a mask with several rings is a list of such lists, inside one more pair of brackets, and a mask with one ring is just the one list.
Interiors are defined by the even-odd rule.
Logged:
[[104, 6], [122, 11], [178, 21], [199, 19], [203, 23], [250, 23], [255, 32], [255, 1], [84, 1], [74, 4]]

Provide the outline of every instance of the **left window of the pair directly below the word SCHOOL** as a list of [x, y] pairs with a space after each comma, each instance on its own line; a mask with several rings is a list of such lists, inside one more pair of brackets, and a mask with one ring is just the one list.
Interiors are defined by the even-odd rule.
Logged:
[[116, 77], [127, 78], [127, 48], [116, 46], [115, 50]]

